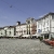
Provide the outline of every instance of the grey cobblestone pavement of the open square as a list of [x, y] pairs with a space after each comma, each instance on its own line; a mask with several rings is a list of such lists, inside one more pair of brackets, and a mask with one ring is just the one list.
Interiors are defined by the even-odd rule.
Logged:
[[54, 54], [54, 49], [39, 40], [0, 39], [0, 54]]

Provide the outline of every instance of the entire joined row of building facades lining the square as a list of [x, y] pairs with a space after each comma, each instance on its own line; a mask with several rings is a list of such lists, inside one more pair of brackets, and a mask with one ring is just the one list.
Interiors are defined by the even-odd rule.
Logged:
[[15, 26], [0, 28], [0, 37], [19, 37], [36, 33], [39, 33], [44, 39], [54, 37], [54, 13], [48, 13], [39, 19], [28, 17], [24, 24], [17, 22]]

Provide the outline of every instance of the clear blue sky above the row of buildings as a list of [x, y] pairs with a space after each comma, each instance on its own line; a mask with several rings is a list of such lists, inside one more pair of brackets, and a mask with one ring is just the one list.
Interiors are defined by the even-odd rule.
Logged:
[[28, 17], [54, 12], [54, 0], [0, 0], [0, 27], [25, 23]]

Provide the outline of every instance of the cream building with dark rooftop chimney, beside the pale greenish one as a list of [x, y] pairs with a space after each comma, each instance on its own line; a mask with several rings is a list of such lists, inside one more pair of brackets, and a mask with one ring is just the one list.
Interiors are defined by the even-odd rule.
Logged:
[[21, 22], [16, 23], [16, 36], [27, 35], [26, 24], [21, 24]]

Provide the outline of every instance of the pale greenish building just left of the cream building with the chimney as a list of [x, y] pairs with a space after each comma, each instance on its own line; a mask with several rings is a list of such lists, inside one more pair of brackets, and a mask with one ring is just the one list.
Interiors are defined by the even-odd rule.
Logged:
[[15, 26], [5, 26], [4, 27], [4, 36], [5, 37], [14, 37], [15, 36]]

